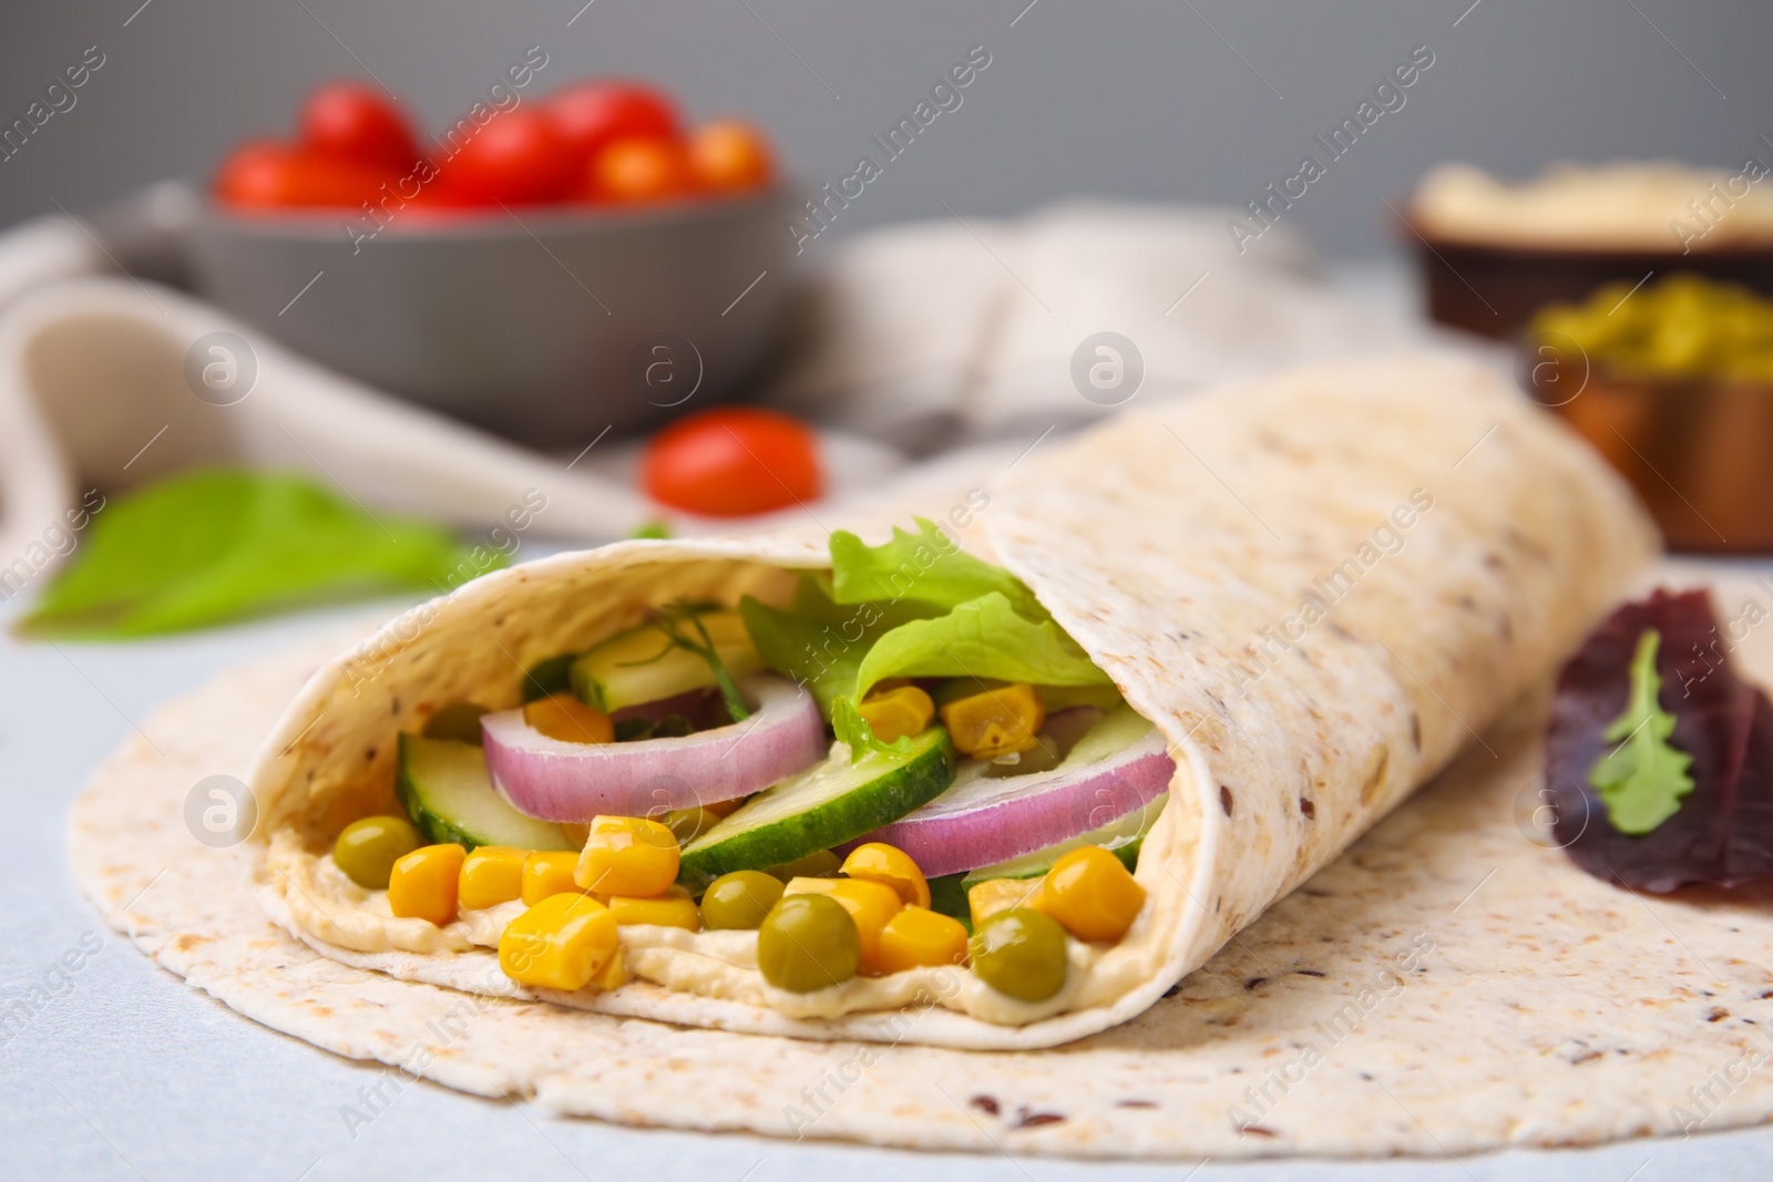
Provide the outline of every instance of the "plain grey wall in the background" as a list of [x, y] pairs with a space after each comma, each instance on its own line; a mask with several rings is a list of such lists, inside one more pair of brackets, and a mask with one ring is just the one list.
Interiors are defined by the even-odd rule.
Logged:
[[594, 0], [567, 27], [582, 2], [7, 0], [0, 124], [85, 46], [106, 64], [0, 163], [0, 222], [204, 177], [232, 142], [287, 131], [328, 76], [372, 71], [440, 128], [530, 44], [550, 53], [532, 92], [652, 78], [693, 115], [757, 119], [814, 183], [847, 175], [871, 135], [984, 44], [993, 62], [963, 106], [867, 188], [846, 232], [945, 216], [941, 202], [963, 216], [1078, 193], [1243, 202], [1418, 44], [1436, 60], [1406, 106], [1289, 214], [1330, 255], [1390, 245], [1381, 198], [1447, 158], [1505, 174], [1557, 158], [1773, 159], [1759, 138], [1773, 136], [1766, 0]]

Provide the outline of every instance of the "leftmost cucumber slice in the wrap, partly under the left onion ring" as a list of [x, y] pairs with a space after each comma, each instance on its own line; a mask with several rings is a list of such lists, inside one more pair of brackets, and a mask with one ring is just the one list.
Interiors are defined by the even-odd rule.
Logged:
[[574, 849], [560, 826], [527, 817], [493, 790], [486, 751], [472, 743], [401, 734], [395, 792], [426, 840], [516, 849]]

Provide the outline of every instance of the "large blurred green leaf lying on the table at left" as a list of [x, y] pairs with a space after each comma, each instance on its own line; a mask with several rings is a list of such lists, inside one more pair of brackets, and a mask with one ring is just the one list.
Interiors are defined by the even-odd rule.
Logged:
[[152, 636], [349, 597], [440, 594], [498, 565], [500, 555], [470, 551], [443, 526], [372, 517], [307, 477], [211, 468], [112, 498], [18, 631]]

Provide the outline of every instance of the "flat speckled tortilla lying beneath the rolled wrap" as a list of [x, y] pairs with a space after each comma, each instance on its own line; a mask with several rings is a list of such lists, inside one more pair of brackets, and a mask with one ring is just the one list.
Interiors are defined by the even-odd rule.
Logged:
[[[1773, 615], [1762, 585], [1716, 595], [1722, 617], [1748, 601]], [[239, 890], [241, 851], [199, 844], [183, 808], [197, 782], [246, 771], [333, 650], [230, 672], [144, 719], [161, 753], [131, 737], [105, 762], [73, 808], [69, 859], [105, 921], [161, 968], [342, 1056], [626, 1125], [1191, 1163], [1434, 1157], [1773, 1118], [1773, 911], [1626, 893], [1530, 840], [1543, 696], [1133, 1021], [1051, 1051], [979, 1053], [473, 998], [319, 955]], [[1730, 659], [1773, 680], [1773, 629]]]

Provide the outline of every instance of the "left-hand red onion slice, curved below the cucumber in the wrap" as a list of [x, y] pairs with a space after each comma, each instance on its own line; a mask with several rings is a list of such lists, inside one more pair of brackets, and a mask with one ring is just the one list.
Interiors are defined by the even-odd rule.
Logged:
[[488, 714], [486, 769], [518, 812], [583, 824], [732, 801], [824, 758], [812, 695], [769, 675], [741, 680], [739, 691], [757, 704], [750, 718], [681, 739], [562, 743], [525, 723], [523, 711]]

